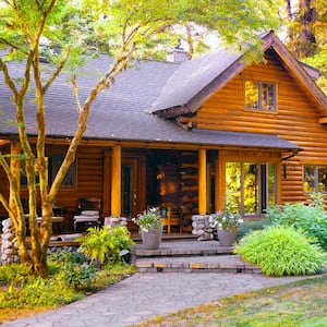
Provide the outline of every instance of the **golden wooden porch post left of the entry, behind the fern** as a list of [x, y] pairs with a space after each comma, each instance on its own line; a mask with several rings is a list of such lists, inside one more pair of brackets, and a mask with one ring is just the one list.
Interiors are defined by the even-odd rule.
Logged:
[[121, 215], [121, 146], [112, 148], [111, 216]]

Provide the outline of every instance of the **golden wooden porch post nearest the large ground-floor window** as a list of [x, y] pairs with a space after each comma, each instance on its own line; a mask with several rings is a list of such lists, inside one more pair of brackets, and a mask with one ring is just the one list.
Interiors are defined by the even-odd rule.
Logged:
[[207, 214], [207, 157], [203, 148], [198, 150], [198, 214]]

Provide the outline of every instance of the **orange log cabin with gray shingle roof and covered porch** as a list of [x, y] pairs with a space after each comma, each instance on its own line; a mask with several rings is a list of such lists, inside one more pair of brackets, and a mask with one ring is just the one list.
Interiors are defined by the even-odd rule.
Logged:
[[[220, 210], [229, 198], [245, 219], [255, 219], [274, 204], [327, 192], [327, 100], [315, 83], [319, 73], [272, 32], [263, 36], [263, 51], [259, 63], [226, 50], [192, 60], [180, 60], [179, 52], [174, 62], [135, 62], [122, 72], [93, 105], [56, 201], [66, 230], [81, 198], [101, 199], [101, 219], [126, 217], [131, 231], [132, 217], [158, 206], [164, 216], [169, 213], [172, 231], [191, 232], [192, 215]], [[100, 56], [87, 68], [101, 70], [107, 60]], [[17, 153], [17, 131], [3, 123], [15, 110], [1, 78], [0, 148]], [[82, 99], [95, 78], [78, 76]], [[32, 99], [25, 111], [33, 141]], [[51, 181], [77, 123], [64, 76], [47, 94], [46, 108]], [[9, 194], [2, 170], [0, 192]], [[23, 168], [21, 193], [26, 196]], [[7, 216], [3, 208], [0, 216]]]

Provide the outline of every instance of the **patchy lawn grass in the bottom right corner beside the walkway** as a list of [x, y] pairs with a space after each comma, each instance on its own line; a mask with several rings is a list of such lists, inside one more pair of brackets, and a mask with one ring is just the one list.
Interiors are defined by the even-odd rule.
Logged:
[[140, 326], [325, 327], [327, 276], [219, 299]]

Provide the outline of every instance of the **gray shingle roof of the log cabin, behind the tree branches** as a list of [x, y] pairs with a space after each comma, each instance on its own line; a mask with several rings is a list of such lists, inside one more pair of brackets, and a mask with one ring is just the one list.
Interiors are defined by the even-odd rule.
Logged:
[[[120, 141], [142, 141], [142, 142], [172, 142], [204, 145], [235, 145], [249, 147], [265, 147], [294, 149], [296, 145], [281, 140], [277, 135], [232, 133], [219, 131], [193, 130], [186, 131], [171, 121], [167, 121], [148, 112], [146, 109], [159, 97], [161, 89], [168, 87], [169, 78], [179, 74], [181, 84], [179, 96], [170, 94], [165, 101], [184, 101], [192, 93], [196, 92], [215, 78], [223, 66], [230, 64], [237, 57], [222, 56], [222, 52], [210, 53], [195, 63], [186, 62], [179, 65], [175, 63], [144, 61], [137, 62], [131, 69], [122, 72], [114, 85], [105, 89], [93, 104], [89, 116], [88, 129], [85, 137]], [[210, 69], [209, 61], [214, 61]], [[89, 63], [90, 69], [101, 70], [109, 64], [105, 56]], [[199, 64], [198, 64], [199, 63]], [[45, 64], [47, 65], [47, 64]], [[201, 68], [196, 70], [195, 66]], [[194, 68], [193, 73], [186, 74]], [[20, 65], [13, 66], [15, 75], [19, 76]], [[205, 74], [204, 74], [205, 72]], [[187, 75], [187, 81], [183, 81], [183, 75]], [[196, 80], [194, 82], [194, 80]], [[81, 99], [85, 99], [89, 85], [96, 80], [96, 75], [83, 75], [77, 78]], [[168, 84], [166, 84], [168, 81]], [[11, 95], [3, 85], [3, 76], [0, 75], [0, 108], [3, 116], [0, 117], [0, 136], [17, 134], [15, 125], [7, 124], [8, 120], [15, 117], [14, 106], [11, 102]], [[185, 90], [185, 92], [184, 92]], [[179, 98], [178, 98], [179, 97]], [[157, 100], [156, 104], [160, 102]], [[36, 135], [35, 126], [35, 102], [33, 93], [28, 94], [25, 102], [26, 129], [31, 135]], [[45, 98], [47, 135], [65, 137], [72, 136], [77, 124], [77, 111], [72, 86], [68, 83], [66, 76], [61, 75], [53, 83]], [[156, 106], [156, 105], [155, 105]]]

